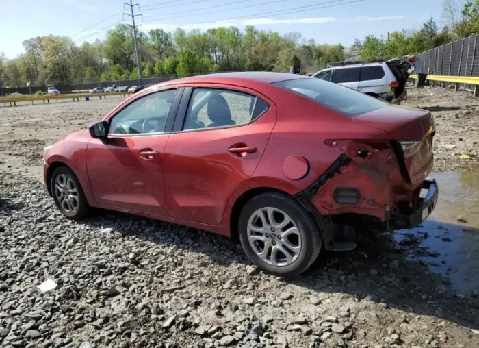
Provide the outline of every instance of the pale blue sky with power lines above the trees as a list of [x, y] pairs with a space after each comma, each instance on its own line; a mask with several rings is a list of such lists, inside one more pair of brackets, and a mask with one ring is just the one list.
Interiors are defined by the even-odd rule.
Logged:
[[[133, 3], [140, 4], [140, 11], [135, 8], [135, 12], [143, 14], [138, 21], [146, 32], [157, 27], [170, 31], [183, 27], [188, 31], [229, 25], [244, 29], [245, 25], [255, 25], [281, 34], [300, 32], [303, 38], [313, 38], [318, 43], [340, 42], [346, 47], [354, 38], [362, 40], [367, 34], [386, 36], [394, 30], [419, 29], [430, 16], [441, 25], [442, 0], [351, 1], [354, 0], [135, 0]], [[123, 20], [123, 0], [2, 2], [0, 53], [4, 52], [8, 58], [23, 53], [23, 40], [34, 36], [71, 36], [76, 45], [81, 45], [83, 41], [102, 40], [109, 27]], [[131, 23], [127, 16], [125, 21]]]

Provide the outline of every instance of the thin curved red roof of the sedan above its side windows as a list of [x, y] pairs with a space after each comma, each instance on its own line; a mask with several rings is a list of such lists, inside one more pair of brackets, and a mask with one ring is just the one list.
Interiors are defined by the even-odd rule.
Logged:
[[182, 79], [174, 79], [163, 84], [187, 84], [187, 83], [218, 83], [218, 82], [260, 82], [263, 84], [273, 84], [274, 82], [285, 81], [287, 79], [309, 79], [304, 75], [296, 75], [291, 73], [272, 73], [269, 71], [247, 71], [241, 73], [214, 73], [207, 75], [198, 75], [193, 77], [184, 77]]

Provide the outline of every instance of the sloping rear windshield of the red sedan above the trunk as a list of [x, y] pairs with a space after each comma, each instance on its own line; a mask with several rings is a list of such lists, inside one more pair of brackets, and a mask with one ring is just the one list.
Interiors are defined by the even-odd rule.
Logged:
[[322, 79], [288, 79], [275, 82], [274, 85], [292, 90], [347, 116], [365, 114], [386, 105], [383, 101], [361, 92]]

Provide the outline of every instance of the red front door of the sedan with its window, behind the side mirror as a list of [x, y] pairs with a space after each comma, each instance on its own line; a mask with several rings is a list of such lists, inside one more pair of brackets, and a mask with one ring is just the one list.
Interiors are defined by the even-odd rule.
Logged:
[[94, 199], [104, 208], [165, 215], [162, 154], [183, 88], [138, 97], [108, 122], [86, 152]]

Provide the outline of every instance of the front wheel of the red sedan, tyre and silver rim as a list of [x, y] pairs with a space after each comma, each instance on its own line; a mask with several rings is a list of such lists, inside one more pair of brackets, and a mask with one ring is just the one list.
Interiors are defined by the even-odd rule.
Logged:
[[51, 175], [50, 188], [55, 206], [67, 219], [81, 220], [90, 206], [77, 176], [66, 166], [60, 166]]

